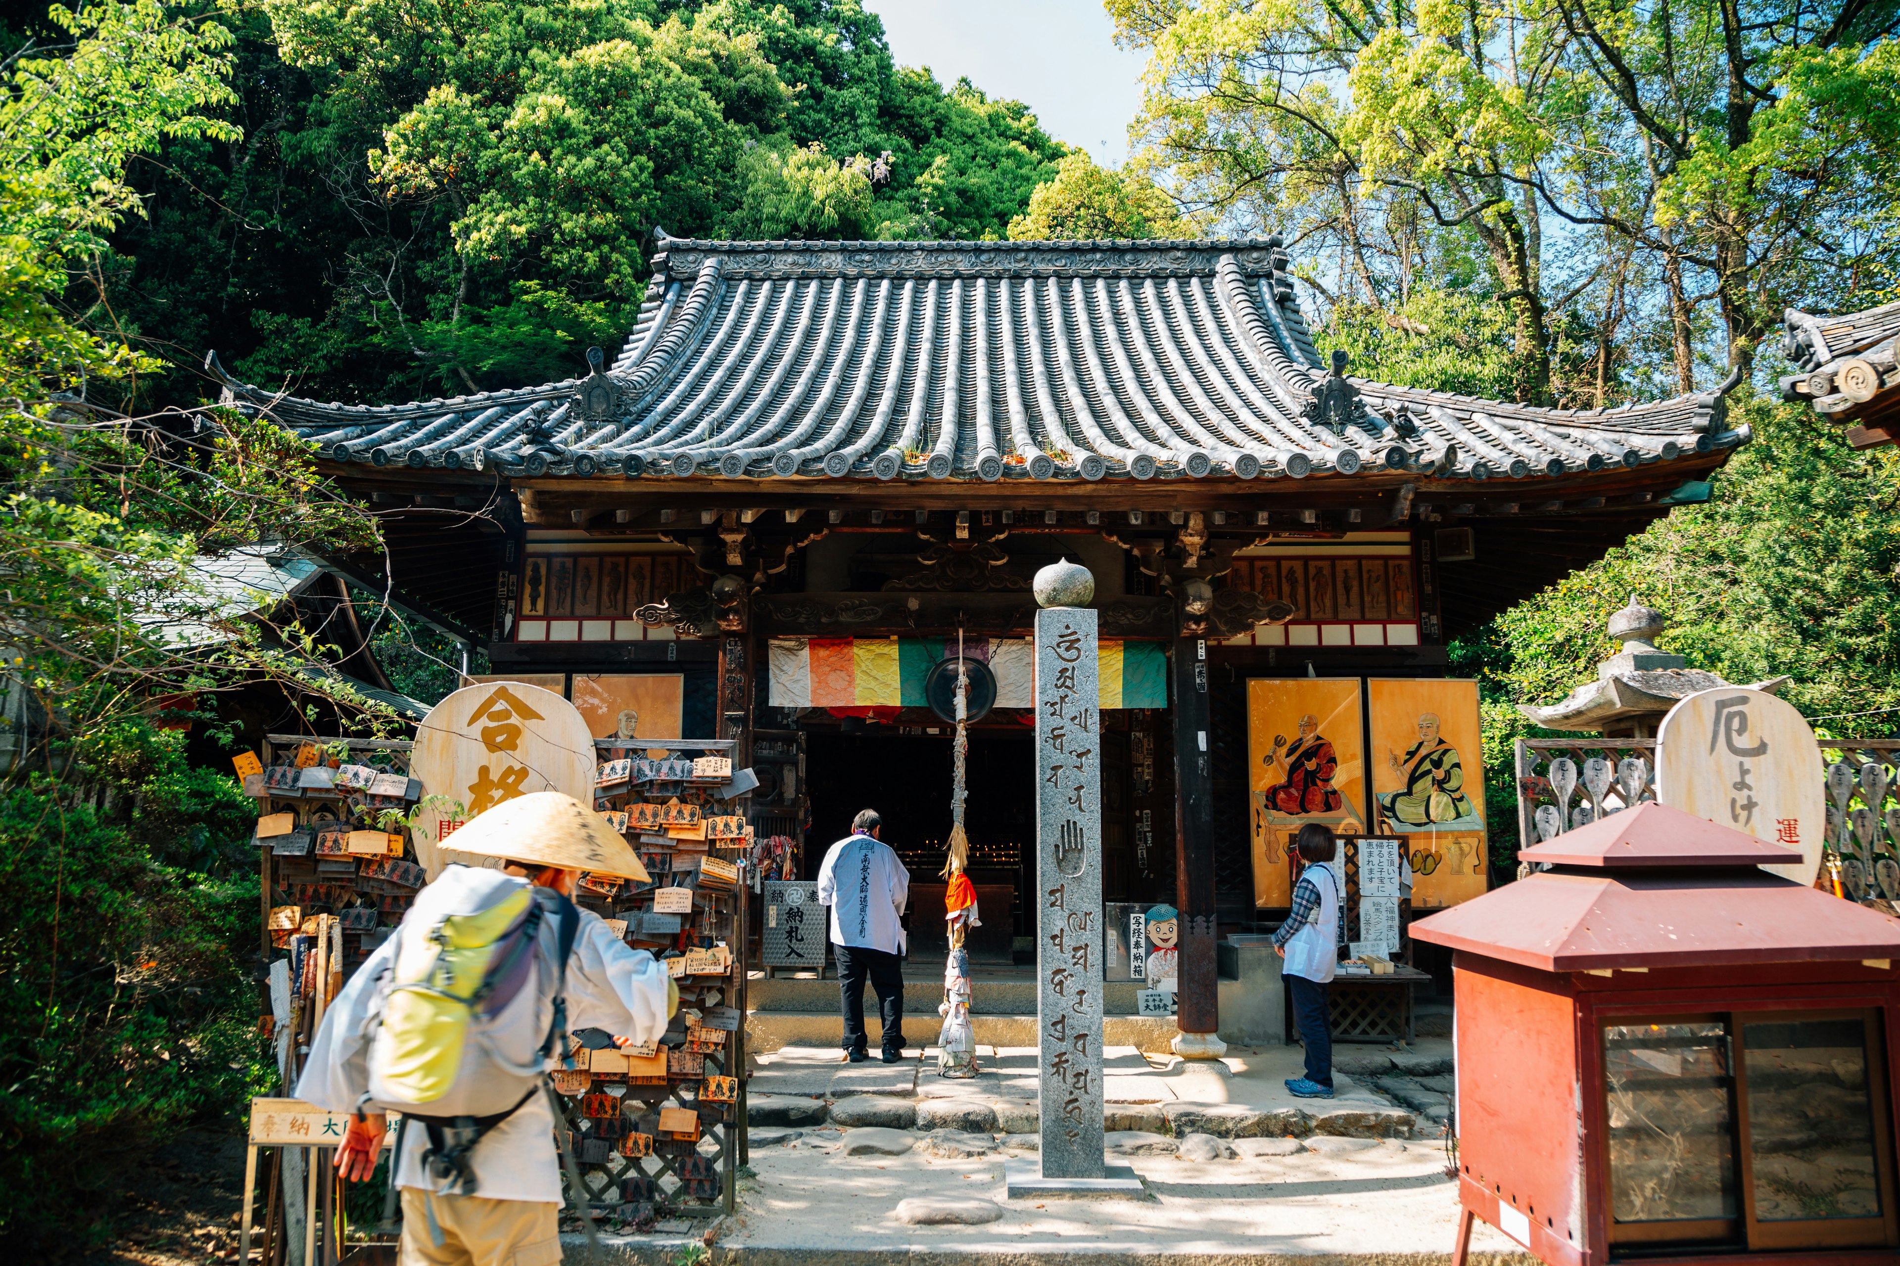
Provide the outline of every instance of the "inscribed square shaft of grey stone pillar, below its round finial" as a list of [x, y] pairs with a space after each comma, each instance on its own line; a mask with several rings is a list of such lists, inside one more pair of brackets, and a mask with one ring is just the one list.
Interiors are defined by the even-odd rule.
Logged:
[[1096, 621], [1036, 613], [1036, 991], [1043, 1179], [1102, 1179], [1102, 735]]

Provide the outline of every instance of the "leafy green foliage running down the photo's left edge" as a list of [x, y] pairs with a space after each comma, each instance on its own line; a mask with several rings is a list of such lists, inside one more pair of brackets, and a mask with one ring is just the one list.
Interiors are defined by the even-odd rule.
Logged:
[[[186, 761], [215, 697], [319, 653], [255, 615], [234, 550], [370, 547], [310, 446], [222, 410], [135, 418], [150, 357], [72, 309], [142, 201], [127, 167], [238, 142], [230, 36], [144, 0], [53, 9], [61, 44], [0, 66], [0, 1243], [103, 1234], [106, 1192], [165, 1129], [256, 1089], [255, 807]], [[344, 700], [346, 704], [352, 700]], [[48, 1192], [63, 1194], [49, 1200]]]

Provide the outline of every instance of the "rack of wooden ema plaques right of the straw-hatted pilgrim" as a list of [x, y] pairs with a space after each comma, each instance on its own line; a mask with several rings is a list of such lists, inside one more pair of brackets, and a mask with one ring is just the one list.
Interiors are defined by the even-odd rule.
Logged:
[[[665, 962], [680, 1010], [650, 1048], [576, 1046], [555, 1072], [581, 1184], [610, 1230], [732, 1213], [745, 1145], [745, 926], [752, 833], [733, 801], [732, 740], [598, 744], [595, 809], [648, 883], [581, 877], [576, 900]], [[566, 1179], [562, 1179], [566, 1182]], [[576, 1200], [576, 1192], [568, 1192]]]

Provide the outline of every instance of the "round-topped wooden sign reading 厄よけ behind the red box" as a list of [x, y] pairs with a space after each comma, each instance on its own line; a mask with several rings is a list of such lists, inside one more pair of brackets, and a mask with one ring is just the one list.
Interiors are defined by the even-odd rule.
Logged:
[[1723, 685], [1683, 697], [1657, 731], [1657, 799], [1801, 852], [1763, 866], [1813, 884], [1826, 843], [1824, 771], [1814, 731], [1767, 691]]

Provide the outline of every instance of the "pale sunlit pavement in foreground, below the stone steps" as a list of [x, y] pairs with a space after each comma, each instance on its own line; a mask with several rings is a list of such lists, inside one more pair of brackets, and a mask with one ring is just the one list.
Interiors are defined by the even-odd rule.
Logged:
[[[846, 1146], [851, 1133], [859, 1131], [825, 1126], [768, 1145], [758, 1131], [741, 1213], [714, 1228], [709, 1266], [1030, 1266], [1049, 1258], [1108, 1266], [1130, 1257], [1182, 1266], [1442, 1266], [1455, 1232], [1455, 1186], [1436, 1143], [1151, 1135], [1142, 1145], [1110, 1135], [1112, 1156], [1134, 1167], [1146, 1196], [1007, 1201], [1003, 1160], [1032, 1154], [1016, 1139], [998, 1145], [971, 1135], [954, 1141], [960, 1146], [935, 1146], [939, 1135], [878, 1131], [923, 1141], [897, 1150], [889, 1141]], [[578, 1238], [564, 1241], [570, 1264], [587, 1260]], [[606, 1260], [661, 1266], [678, 1260], [684, 1243], [619, 1239]], [[1476, 1228], [1472, 1262], [1531, 1260], [1490, 1226]]]

